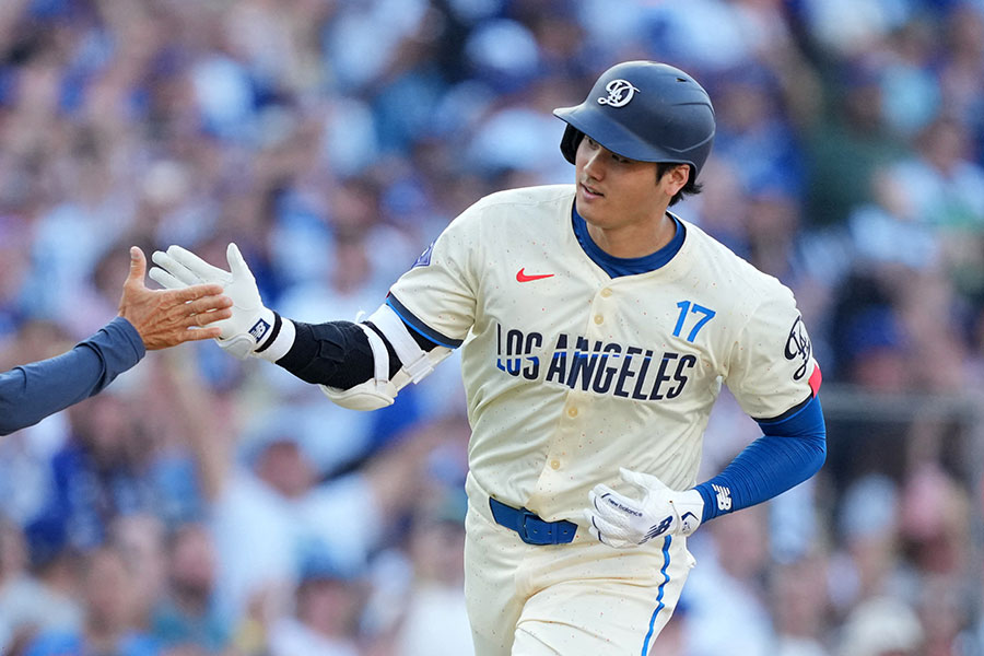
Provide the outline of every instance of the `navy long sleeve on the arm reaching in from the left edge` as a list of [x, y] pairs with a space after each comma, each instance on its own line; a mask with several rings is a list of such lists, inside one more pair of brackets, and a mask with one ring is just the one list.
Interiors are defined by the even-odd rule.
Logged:
[[91, 397], [145, 352], [137, 329], [116, 317], [67, 353], [0, 374], [0, 435]]

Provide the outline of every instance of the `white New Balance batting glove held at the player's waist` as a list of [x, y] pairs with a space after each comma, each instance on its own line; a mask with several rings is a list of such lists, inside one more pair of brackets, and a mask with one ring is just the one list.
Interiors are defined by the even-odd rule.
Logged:
[[598, 484], [588, 492], [590, 505], [584, 517], [591, 535], [616, 549], [637, 547], [660, 536], [689, 536], [704, 512], [696, 490], [677, 492], [649, 473], [620, 467], [622, 480], [643, 491], [642, 501]]

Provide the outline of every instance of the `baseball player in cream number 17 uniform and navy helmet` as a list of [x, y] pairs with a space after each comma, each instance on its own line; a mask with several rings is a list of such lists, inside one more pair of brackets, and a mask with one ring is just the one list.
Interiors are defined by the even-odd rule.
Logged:
[[[263, 307], [234, 244], [231, 271], [173, 246], [151, 277], [222, 283], [223, 348], [348, 408], [393, 403], [460, 348], [476, 653], [646, 655], [688, 536], [822, 465], [820, 370], [789, 290], [667, 209], [700, 191], [714, 137], [693, 78], [620, 63], [554, 114], [575, 183], [479, 200], [361, 323]], [[696, 484], [722, 383], [763, 435]]]

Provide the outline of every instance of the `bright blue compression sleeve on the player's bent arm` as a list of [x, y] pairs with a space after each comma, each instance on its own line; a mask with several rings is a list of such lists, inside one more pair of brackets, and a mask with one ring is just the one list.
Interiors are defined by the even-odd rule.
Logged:
[[704, 497], [703, 522], [776, 496], [807, 480], [827, 459], [827, 425], [820, 399], [792, 417], [760, 421], [764, 435], [719, 475], [696, 487]]

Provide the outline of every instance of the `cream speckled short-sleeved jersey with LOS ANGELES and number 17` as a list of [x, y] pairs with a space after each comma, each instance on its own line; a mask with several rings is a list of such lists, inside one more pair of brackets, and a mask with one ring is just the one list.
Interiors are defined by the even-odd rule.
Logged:
[[581, 519], [619, 467], [695, 483], [722, 383], [754, 419], [811, 395], [819, 368], [792, 292], [690, 223], [665, 266], [610, 278], [572, 229], [573, 185], [485, 197], [391, 288], [462, 349], [469, 468], [500, 501]]

